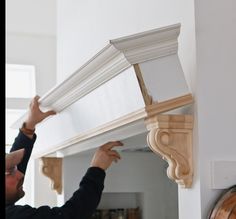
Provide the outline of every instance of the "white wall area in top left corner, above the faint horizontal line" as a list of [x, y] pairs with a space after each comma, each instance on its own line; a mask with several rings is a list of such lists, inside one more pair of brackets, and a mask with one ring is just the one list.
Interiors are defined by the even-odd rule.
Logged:
[[57, 0], [7, 0], [6, 31], [56, 36]]

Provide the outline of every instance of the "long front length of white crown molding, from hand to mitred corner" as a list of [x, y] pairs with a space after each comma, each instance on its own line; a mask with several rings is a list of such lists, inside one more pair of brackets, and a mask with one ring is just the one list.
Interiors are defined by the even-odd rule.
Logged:
[[110, 45], [96, 57], [71, 75], [58, 89], [48, 92], [40, 100], [41, 105], [51, 106], [60, 112], [131, 66], [124, 55]]

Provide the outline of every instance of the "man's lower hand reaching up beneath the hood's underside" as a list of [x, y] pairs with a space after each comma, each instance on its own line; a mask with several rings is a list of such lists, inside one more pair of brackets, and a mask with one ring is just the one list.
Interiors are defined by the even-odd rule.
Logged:
[[111, 141], [100, 146], [93, 156], [91, 166], [100, 167], [101, 169], [106, 170], [113, 161], [117, 162], [119, 159], [121, 159], [119, 153], [115, 150], [112, 150], [112, 148], [122, 145], [123, 143], [120, 141]]

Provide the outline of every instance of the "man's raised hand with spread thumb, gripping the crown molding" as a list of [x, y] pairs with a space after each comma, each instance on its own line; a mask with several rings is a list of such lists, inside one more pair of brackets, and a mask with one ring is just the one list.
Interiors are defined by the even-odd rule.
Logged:
[[28, 118], [25, 121], [26, 123], [26, 128], [27, 129], [35, 129], [35, 126], [43, 121], [45, 118], [47, 118], [50, 115], [55, 115], [56, 112], [53, 110], [49, 110], [47, 112], [42, 112], [39, 109], [39, 96], [35, 96], [32, 101], [30, 102], [30, 109], [29, 109], [29, 114]]

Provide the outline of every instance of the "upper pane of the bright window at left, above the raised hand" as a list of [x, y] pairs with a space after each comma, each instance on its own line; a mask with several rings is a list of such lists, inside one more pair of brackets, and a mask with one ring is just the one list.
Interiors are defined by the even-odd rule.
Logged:
[[32, 98], [35, 94], [35, 66], [6, 64], [6, 97]]

